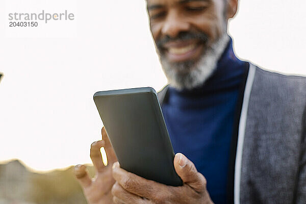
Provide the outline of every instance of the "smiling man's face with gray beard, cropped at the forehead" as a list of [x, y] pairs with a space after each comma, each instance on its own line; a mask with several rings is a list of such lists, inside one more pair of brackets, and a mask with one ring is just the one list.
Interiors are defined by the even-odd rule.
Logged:
[[200, 85], [227, 42], [224, 0], [147, 0], [147, 9], [170, 84], [179, 89]]

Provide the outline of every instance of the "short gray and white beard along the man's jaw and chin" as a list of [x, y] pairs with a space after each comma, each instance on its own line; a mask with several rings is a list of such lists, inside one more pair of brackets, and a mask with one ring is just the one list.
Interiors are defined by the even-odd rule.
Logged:
[[171, 63], [164, 55], [159, 54], [170, 86], [178, 90], [190, 90], [205, 83], [217, 68], [218, 60], [229, 40], [230, 37], [224, 33], [216, 42], [206, 48], [205, 54], [197, 61]]

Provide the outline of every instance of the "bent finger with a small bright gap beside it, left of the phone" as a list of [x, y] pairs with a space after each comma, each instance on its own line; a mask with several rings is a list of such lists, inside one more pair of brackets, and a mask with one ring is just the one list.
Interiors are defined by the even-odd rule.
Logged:
[[97, 172], [101, 172], [104, 168], [100, 148], [105, 145], [105, 141], [95, 141], [91, 144], [90, 147], [90, 158], [93, 163], [93, 166]]

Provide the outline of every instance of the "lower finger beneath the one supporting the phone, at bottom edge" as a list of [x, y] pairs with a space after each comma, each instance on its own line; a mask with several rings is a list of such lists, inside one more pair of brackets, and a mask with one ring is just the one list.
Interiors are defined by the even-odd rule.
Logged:
[[135, 195], [133, 193], [130, 193], [129, 191], [126, 191], [124, 188], [122, 188], [122, 186], [120, 186], [118, 182], [116, 182], [113, 185], [112, 195], [114, 197], [119, 198], [120, 200], [122, 200], [124, 203], [127, 203], [127, 204], [134, 204], [134, 203], [137, 204], [137, 203], [144, 202], [142, 197]]

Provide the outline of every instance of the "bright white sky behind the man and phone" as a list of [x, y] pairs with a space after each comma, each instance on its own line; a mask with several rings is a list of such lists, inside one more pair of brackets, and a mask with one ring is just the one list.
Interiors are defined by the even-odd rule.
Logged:
[[[305, 7], [302, 0], [240, 1], [229, 25], [237, 56], [306, 74]], [[48, 22], [30, 34], [8, 30], [8, 13], [42, 9], [68, 10], [75, 20]], [[0, 28], [2, 163], [18, 158], [40, 171], [91, 163], [90, 144], [101, 138], [102, 127], [93, 94], [166, 84], [144, 0], [6, 0], [0, 2]]]

